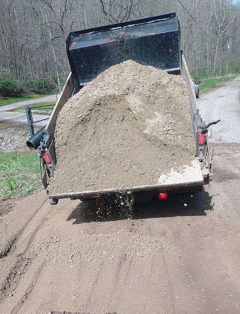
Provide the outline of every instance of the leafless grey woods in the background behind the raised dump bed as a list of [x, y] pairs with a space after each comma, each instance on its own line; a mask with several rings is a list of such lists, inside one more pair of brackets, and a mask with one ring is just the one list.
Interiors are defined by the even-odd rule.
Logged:
[[240, 71], [237, 0], [0, 0], [0, 77], [60, 90], [69, 72], [70, 31], [173, 11], [192, 75]]

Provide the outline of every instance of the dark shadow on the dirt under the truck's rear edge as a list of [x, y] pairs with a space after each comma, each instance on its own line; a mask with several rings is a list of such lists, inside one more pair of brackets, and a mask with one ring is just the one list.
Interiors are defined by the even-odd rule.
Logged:
[[[184, 204], [187, 204], [184, 205]], [[68, 216], [73, 224], [121, 219], [148, 219], [175, 216], [205, 216], [206, 211], [213, 210], [212, 196], [208, 192], [171, 194], [167, 200], [152, 199], [149, 202], [136, 203], [125, 207], [105, 203], [97, 207], [95, 200], [80, 202]]]

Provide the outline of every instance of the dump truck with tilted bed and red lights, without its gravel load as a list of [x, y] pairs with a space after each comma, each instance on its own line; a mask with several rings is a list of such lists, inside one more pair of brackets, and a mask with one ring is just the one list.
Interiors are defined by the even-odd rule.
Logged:
[[[155, 195], [166, 199], [168, 194], [202, 190], [212, 175], [213, 150], [210, 151], [208, 128], [218, 123], [206, 124], [199, 114], [190, 73], [180, 48], [181, 28], [176, 13], [168, 13], [117, 24], [105, 25], [71, 32], [66, 39], [66, 51], [71, 72], [45, 127], [27, 141], [30, 149], [37, 149], [43, 186], [50, 204], [61, 198], [88, 200], [95, 198], [101, 205], [106, 198], [119, 193], [131, 194], [134, 201], [147, 201]], [[48, 184], [56, 169], [54, 131], [57, 115], [66, 101], [112, 65], [132, 59], [151, 65], [173, 75], [181, 75], [189, 93], [189, 106], [196, 155], [194, 162], [182, 172], [161, 174], [155, 185], [126, 186], [121, 189], [74, 191], [49, 194]], [[31, 120], [29, 108], [26, 110]], [[184, 123], [184, 122], [183, 122]], [[80, 144], [79, 144], [80, 145]], [[156, 161], [157, 162], [157, 161]], [[43, 173], [43, 174], [42, 174]], [[57, 179], [57, 177], [55, 178]], [[157, 181], [157, 180], [156, 180]]]

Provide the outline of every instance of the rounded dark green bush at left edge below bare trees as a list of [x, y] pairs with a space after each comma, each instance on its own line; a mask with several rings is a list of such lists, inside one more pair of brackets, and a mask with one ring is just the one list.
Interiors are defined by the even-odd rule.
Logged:
[[0, 80], [0, 94], [3, 97], [22, 95], [24, 91], [24, 85], [14, 77], [9, 76]]

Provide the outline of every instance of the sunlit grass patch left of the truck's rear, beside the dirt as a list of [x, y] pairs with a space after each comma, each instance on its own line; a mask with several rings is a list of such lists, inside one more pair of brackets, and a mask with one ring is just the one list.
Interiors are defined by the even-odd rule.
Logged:
[[0, 199], [26, 195], [40, 186], [38, 157], [33, 152], [0, 152]]

